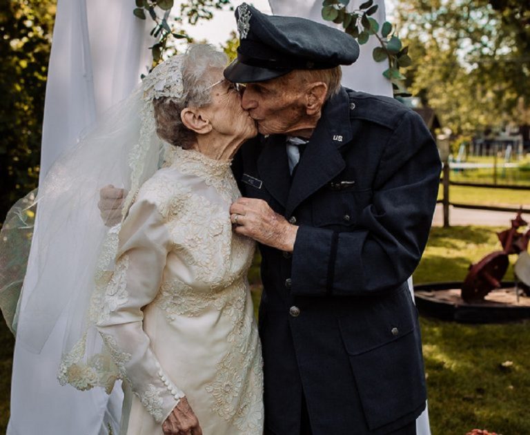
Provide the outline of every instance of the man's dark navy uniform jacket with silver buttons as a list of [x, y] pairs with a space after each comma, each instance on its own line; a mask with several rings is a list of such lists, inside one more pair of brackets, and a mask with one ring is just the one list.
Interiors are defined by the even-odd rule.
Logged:
[[260, 246], [266, 427], [386, 434], [424, 409], [418, 314], [406, 280], [424, 250], [440, 159], [399, 102], [342, 88], [323, 108], [295, 176], [285, 137], [242, 146], [242, 194], [300, 226], [294, 252]]

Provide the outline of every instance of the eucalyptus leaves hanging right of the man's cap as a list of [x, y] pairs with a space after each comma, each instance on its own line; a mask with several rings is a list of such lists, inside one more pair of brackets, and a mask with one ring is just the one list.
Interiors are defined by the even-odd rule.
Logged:
[[384, 70], [383, 75], [392, 83], [394, 96], [408, 97], [411, 94], [404, 86], [405, 77], [400, 72], [400, 68], [411, 66], [412, 61], [408, 55], [409, 48], [403, 47], [402, 42], [395, 35], [395, 28], [389, 21], [385, 21], [380, 26], [371, 15], [377, 12], [378, 6], [373, 4], [373, 0], [368, 0], [359, 6], [359, 9], [348, 11], [350, 0], [324, 0], [322, 3], [322, 18], [333, 23], [340, 24], [344, 31], [357, 39], [357, 42], [364, 44], [371, 36], [380, 42], [379, 47], [375, 47], [372, 57], [376, 62], [388, 61], [389, 68]]

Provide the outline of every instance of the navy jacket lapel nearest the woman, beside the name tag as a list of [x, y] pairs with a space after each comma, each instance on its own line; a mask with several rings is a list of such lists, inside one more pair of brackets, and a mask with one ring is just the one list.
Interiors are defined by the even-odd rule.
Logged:
[[291, 184], [285, 136], [273, 135], [263, 139], [262, 152], [257, 160], [257, 172], [264, 182], [264, 187], [271, 195], [285, 206]]

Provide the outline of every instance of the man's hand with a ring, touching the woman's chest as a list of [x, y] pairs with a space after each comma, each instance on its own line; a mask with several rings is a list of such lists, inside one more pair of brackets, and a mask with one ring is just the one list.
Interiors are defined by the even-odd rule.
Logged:
[[264, 200], [239, 198], [230, 206], [234, 231], [281, 251], [293, 252], [298, 227], [275, 213]]

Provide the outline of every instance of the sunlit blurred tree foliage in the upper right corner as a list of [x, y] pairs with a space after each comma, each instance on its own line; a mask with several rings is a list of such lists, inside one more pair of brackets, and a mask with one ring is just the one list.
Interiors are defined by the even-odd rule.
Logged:
[[530, 6], [523, 3], [400, 1], [397, 22], [417, 59], [407, 83], [454, 133], [520, 122], [521, 99], [530, 104]]

